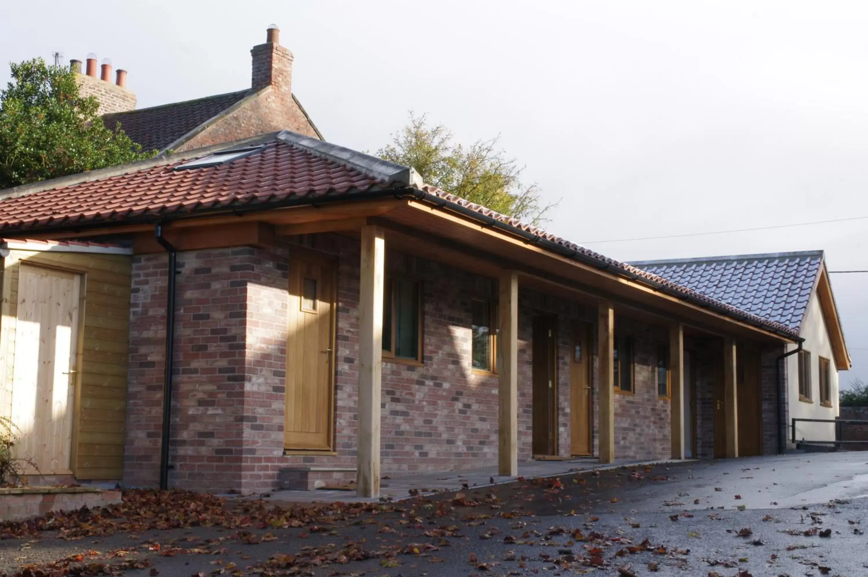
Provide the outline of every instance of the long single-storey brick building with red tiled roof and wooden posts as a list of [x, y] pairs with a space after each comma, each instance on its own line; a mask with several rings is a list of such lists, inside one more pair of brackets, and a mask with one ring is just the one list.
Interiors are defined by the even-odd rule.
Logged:
[[[74, 351], [96, 372], [72, 443], [106, 463], [74, 450], [82, 480], [377, 495], [381, 472], [770, 454], [785, 425], [791, 326], [310, 135], [0, 192], [0, 234], [131, 252], [128, 348], [97, 319]], [[85, 439], [96, 422], [122, 446]]]

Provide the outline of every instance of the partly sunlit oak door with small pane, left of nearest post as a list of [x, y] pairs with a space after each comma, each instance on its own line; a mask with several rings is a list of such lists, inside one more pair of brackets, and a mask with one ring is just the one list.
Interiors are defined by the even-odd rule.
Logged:
[[335, 266], [297, 251], [289, 267], [284, 447], [332, 450]]

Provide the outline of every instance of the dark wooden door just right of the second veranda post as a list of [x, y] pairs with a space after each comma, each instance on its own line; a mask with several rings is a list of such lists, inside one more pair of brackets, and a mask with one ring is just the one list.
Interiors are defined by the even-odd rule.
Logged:
[[534, 318], [533, 339], [533, 453], [557, 455], [556, 318]]

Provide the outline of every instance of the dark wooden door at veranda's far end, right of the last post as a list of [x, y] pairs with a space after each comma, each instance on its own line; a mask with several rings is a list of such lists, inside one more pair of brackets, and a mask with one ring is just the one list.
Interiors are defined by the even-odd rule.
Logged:
[[739, 347], [736, 358], [736, 402], [739, 407], [739, 456], [762, 455], [762, 407], [759, 351]]

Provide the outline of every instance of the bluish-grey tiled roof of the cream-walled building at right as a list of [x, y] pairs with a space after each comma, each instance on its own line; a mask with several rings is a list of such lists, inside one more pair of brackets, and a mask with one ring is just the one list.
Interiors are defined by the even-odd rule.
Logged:
[[823, 252], [745, 254], [632, 263], [796, 331], [823, 266]]

